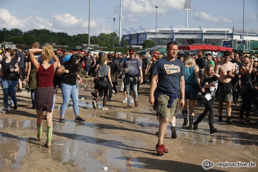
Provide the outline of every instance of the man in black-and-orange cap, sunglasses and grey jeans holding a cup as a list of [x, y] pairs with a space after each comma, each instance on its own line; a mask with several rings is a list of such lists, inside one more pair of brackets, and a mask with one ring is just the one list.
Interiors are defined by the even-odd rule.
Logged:
[[141, 71], [141, 62], [139, 59], [134, 57], [134, 49], [129, 49], [130, 57], [124, 60], [122, 71], [125, 72], [124, 85], [127, 92], [127, 106], [125, 109], [132, 108], [132, 97], [131, 90], [134, 94], [134, 105], [138, 106], [137, 102], [137, 83], [138, 83], [138, 69], [141, 76], [140, 84], [143, 81], [142, 71]]

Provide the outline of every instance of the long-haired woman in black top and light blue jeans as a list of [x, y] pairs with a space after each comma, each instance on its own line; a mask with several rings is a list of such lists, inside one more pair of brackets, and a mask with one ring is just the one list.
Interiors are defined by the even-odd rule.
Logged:
[[60, 110], [60, 123], [66, 123], [64, 119], [64, 114], [66, 107], [69, 103], [70, 97], [73, 101], [73, 111], [75, 114], [75, 122], [84, 122], [79, 115], [79, 96], [78, 96], [78, 88], [76, 85], [76, 79], [79, 79], [80, 86], [82, 84], [82, 79], [80, 78], [80, 64], [78, 63], [80, 60], [77, 54], [73, 54], [67, 62], [64, 62], [60, 68], [57, 69], [57, 74], [62, 74], [62, 82], [61, 82], [61, 90], [63, 95], [63, 104]]

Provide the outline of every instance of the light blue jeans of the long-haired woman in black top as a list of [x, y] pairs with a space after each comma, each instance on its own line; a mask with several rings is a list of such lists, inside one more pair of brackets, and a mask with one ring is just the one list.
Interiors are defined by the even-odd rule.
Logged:
[[79, 94], [77, 85], [69, 85], [61, 82], [61, 91], [63, 95], [63, 103], [61, 105], [60, 116], [64, 117], [66, 107], [69, 103], [70, 97], [73, 101], [73, 111], [75, 116], [79, 116]]

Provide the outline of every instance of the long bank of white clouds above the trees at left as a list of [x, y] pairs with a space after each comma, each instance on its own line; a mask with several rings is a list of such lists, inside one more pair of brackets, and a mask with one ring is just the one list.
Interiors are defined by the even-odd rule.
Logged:
[[[68, 35], [88, 33], [88, 20], [83, 21], [69, 13], [51, 15], [51, 21], [36, 16], [12, 16], [8, 10], [0, 8], [0, 28], [18, 28], [23, 32], [32, 29], [48, 29], [53, 32], [65, 32]], [[95, 20], [90, 20], [90, 29], [99, 29]], [[91, 34], [92, 35], [92, 34]]]

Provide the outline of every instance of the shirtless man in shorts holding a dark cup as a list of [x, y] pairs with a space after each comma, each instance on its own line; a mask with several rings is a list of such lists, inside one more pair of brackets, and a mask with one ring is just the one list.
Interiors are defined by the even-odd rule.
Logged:
[[[219, 111], [219, 122], [222, 122], [222, 109], [223, 102], [226, 101], [227, 108], [227, 123], [232, 123], [230, 119], [231, 115], [231, 102], [233, 102], [233, 86], [231, 84], [232, 78], [236, 76], [235, 65], [230, 62], [230, 51], [226, 50], [223, 54], [223, 60], [217, 63], [215, 73], [218, 73], [219, 83], [217, 89], [216, 99], [218, 101], [218, 111]], [[232, 89], [233, 88], [233, 89]]]

